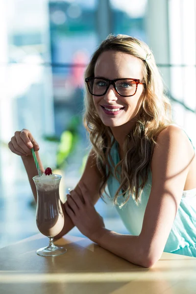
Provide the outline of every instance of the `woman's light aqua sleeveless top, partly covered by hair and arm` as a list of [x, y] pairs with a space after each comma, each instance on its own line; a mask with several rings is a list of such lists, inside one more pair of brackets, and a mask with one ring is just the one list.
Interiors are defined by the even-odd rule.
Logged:
[[[120, 161], [117, 141], [111, 148], [111, 157], [116, 166]], [[116, 209], [131, 235], [138, 236], [141, 232], [151, 183], [152, 176], [149, 172], [147, 183], [142, 192], [141, 203], [138, 206], [130, 196], [128, 202], [121, 208], [120, 205], [124, 202], [124, 197], [118, 197], [119, 206], [116, 206]], [[115, 177], [110, 175], [107, 186], [112, 201], [120, 184]], [[196, 257], [196, 188], [183, 192], [164, 251]]]

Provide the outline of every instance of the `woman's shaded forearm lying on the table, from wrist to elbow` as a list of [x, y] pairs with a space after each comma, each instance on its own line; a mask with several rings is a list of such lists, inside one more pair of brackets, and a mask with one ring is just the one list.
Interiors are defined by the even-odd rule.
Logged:
[[122, 235], [104, 228], [100, 237], [93, 241], [133, 264], [146, 265], [139, 236]]

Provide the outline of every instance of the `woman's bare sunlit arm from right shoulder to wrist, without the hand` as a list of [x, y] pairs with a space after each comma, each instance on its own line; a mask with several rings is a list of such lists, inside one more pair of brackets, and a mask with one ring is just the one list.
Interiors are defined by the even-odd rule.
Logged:
[[175, 126], [158, 136], [151, 161], [152, 187], [139, 236], [121, 235], [102, 228], [93, 240], [124, 259], [151, 267], [168, 240], [195, 154], [186, 134]]

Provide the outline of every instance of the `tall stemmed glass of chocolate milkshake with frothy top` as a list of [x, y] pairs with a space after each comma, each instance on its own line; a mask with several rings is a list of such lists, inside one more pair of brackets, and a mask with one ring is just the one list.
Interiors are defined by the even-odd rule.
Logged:
[[53, 244], [53, 237], [58, 235], [64, 226], [64, 214], [59, 197], [60, 180], [59, 174], [33, 177], [37, 189], [37, 227], [49, 238], [49, 245], [36, 251], [38, 255], [56, 256], [67, 252], [66, 248]]

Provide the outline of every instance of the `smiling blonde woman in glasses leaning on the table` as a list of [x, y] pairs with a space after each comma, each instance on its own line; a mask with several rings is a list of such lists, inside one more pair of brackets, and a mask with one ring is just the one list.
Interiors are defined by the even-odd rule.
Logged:
[[[82, 177], [63, 206], [65, 224], [124, 259], [151, 267], [163, 251], [196, 257], [196, 156], [172, 124], [170, 103], [152, 52], [143, 42], [110, 35], [86, 69], [84, 125], [90, 151]], [[36, 200], [34, 147], [28, 130], [9, 142], [22, 156]], [[94, 205], [108, 186], [130, 235], [107, 230]]]

